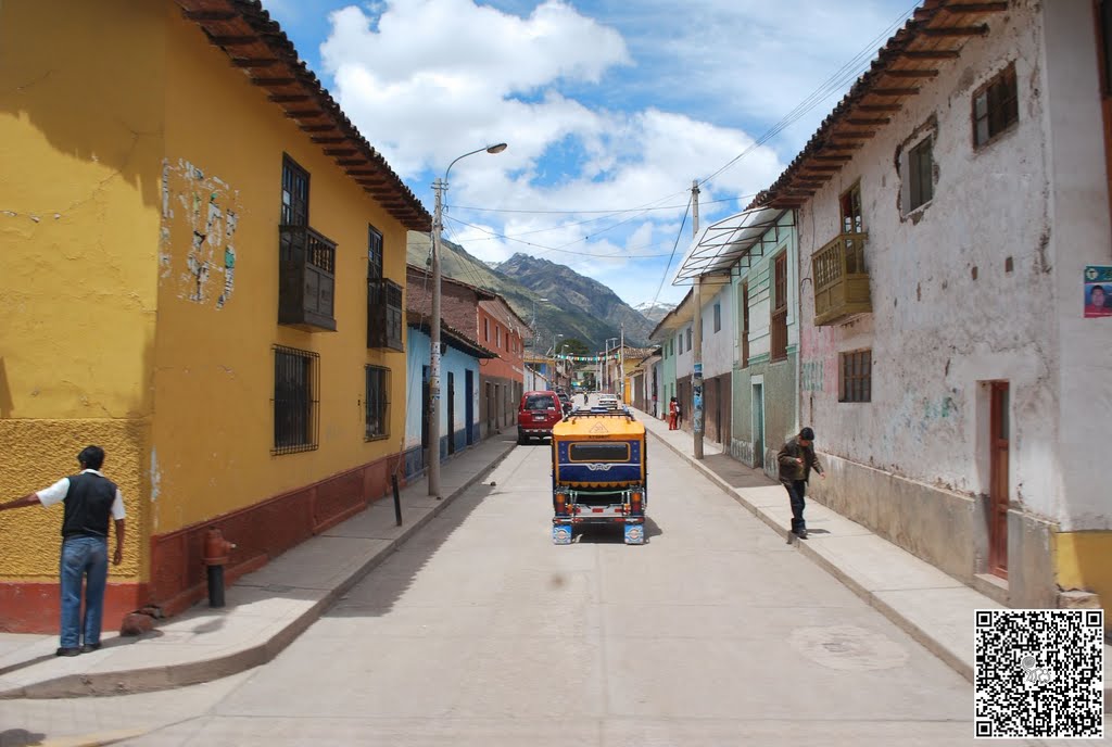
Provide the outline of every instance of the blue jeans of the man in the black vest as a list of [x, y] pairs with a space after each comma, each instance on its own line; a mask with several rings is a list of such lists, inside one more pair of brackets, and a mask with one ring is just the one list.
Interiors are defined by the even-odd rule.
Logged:
[[[85, 587], [85, 626], [81, 625], [81, 582]], [[100, 643], [100, 621], [105, 614], [105, 585], [108, 582], [108, 538], [69, 537], [62, 541], [62, 648]]]

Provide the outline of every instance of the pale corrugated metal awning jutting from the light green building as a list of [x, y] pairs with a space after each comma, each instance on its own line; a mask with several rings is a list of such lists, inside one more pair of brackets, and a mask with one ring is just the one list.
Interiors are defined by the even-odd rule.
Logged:
[[672, 285], [686, 285], [684, 280], [705, 275], [729, 275], [739, 263], [749, 267], [754, 248], [758, 249], [757, 257], [764, 257], [766, 248], [781, 242], [781, 229], [795, 226], [794, 217], [781, 222], [785, 212], [784, 208], [756, 208], [708, 225], [692, 241]]

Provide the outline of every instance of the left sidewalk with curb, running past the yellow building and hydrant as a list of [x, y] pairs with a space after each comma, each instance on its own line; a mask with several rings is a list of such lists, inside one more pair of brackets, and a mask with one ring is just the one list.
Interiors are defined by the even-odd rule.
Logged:
[[[226, 590], [227, 606], [208, 601], [165, 620], [152, 633], [123, 638], [106, 630], [105, 647], [54, 656], [58, 637], [0, 634], [0, 699], [125, 695], [205, 683], [266, 664], [429, 519], [480, 481], [514, 448], [507, 430], [444, 462], [443, 500], [420, 478], [401, 490], [400, 527], [391, 495], [284, 552]], [[116, 625], [118, 620], [106, 620]]]

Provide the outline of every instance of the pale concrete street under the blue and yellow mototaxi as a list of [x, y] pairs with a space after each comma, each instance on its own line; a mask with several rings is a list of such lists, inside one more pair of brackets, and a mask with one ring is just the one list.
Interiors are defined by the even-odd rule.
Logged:
[[158, 747], [974, 744], [966, 680], [648, 448], [643, 547], [552, 545], [549, 450], [520, 446], [270, 664], [0, 716], [165, 713], [123, 741]]

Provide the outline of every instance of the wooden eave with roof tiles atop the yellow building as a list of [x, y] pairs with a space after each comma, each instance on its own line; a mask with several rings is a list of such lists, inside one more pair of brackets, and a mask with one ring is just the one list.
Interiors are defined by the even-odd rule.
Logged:
[[[182, 16], [197, 23], [209, 43], [267, 99], [295, 121], [325, 156], [413, 231], [431, 230], [433, 217], [381, 153], [359, 133], [317, 76], [297, 56], [294, 43], [259, 0], [176, 0]], [[350, 167], [358, 167], [353, 169]]]

